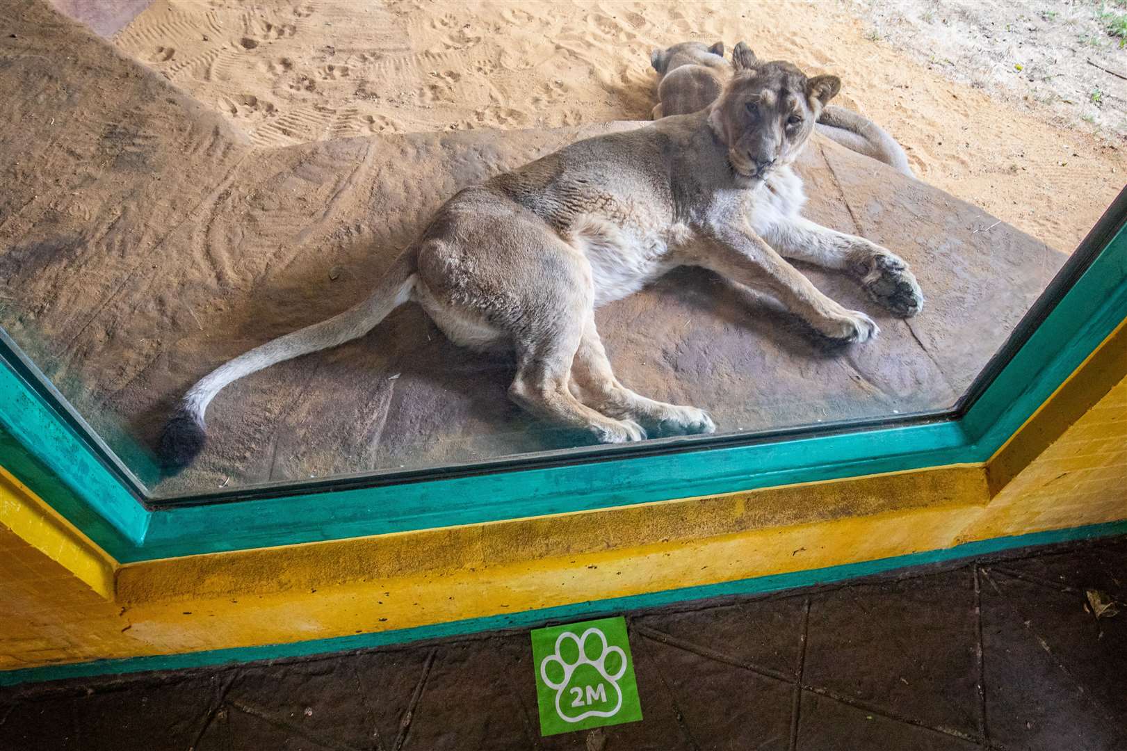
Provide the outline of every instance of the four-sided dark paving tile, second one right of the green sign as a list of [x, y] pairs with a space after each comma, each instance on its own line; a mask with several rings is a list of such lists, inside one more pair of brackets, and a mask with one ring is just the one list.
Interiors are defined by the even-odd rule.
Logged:
[[978, 733], [974, 574], [814, 595], [802, 682], [886, 714]]

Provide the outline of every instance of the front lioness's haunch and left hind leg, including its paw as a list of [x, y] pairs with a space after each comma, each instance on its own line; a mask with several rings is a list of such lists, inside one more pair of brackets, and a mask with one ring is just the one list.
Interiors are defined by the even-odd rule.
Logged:
[[419, 301], [456, 343], [516, 354], [508, 395], [529, 412], [603, 443], [641, 441], [631, 419], [571, 394], [571, 362], [593, 315], [586, 259], [538, 217], [496, 194], [462, 196], [432, 226], [419, 253]]

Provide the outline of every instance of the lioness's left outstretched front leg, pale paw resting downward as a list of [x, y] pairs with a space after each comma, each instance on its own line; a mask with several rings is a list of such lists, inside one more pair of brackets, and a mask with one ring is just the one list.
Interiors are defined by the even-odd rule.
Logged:
[[692, 263], [766, 292], [827, 338], [866, 342], [880, 332], [863, 312], [823, 294], [751, 228], [719, 229]]

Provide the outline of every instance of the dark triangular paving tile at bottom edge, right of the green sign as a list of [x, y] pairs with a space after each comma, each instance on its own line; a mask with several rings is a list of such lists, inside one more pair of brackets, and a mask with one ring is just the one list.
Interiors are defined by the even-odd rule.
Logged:
[[[802, 692], [797, 751], [973, 751], [978, 744]], [[1061, 749], [1064, 751], [1064, 749]]]

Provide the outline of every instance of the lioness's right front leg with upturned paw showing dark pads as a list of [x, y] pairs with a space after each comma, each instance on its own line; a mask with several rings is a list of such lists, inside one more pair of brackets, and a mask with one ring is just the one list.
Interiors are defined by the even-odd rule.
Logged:
[[897, 316], [915, 316], [923, 309], [923, 292], [907, 263], [863, 237], [799, 217], [775, 223], [765, 239], [788, 258], [850, 272], [873, 300]]

